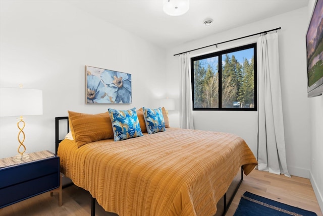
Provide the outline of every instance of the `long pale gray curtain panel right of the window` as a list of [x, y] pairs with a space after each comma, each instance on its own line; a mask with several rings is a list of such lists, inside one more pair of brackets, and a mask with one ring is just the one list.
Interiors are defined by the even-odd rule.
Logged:
[[258, 170], [290, 177], [286, 163], [278, 33], [261, 35], [257, 48]]

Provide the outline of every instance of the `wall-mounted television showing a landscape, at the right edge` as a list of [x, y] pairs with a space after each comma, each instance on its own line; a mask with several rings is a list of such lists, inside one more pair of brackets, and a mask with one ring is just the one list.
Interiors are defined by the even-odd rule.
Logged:
[[323, 93], [323, 0], [316, 0], [306, 34], [307, 96]]

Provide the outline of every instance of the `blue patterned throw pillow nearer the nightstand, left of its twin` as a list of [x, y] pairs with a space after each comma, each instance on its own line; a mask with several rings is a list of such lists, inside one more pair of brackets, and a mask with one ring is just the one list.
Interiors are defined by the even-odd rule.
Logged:
[[142, 136], [136, 108], [131, 110], [109, 109], [115, 141]]

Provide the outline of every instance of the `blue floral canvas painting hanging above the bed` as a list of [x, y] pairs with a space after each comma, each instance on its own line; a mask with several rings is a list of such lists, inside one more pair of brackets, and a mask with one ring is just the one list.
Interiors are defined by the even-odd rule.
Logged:
[[86, 103], [131, 103], [131, 74], [85, 66]]

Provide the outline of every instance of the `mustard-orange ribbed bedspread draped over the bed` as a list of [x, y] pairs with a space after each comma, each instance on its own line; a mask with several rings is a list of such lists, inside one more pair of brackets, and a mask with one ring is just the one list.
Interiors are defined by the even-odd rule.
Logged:
[[240, 167], [257, 164], [236, 135], [177, 128], [80, 148], [65, 139], [58, 155], [75, 185], [120, 216], [214, 215]]

